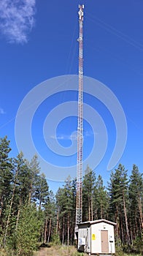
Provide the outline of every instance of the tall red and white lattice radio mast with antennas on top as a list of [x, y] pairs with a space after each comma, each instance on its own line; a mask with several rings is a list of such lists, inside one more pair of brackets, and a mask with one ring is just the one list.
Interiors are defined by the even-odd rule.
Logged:
[[77, 198], [76, 198], [76, 228], [82, 222], [82, 140], [83, 140], [83, 120], [82, 120], [82, 98], [83, 98], [83, 9], [84, 5], [79, 5], [80, 37], [79, 42], [79, 94], [78, 94], [78, 127], [77, 127]]

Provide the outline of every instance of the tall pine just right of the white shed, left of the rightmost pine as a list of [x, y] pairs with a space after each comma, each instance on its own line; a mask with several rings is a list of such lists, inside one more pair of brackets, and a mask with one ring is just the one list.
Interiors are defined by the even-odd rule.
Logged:
[[111, 173], [109, 184], [110, 211], [109, 216], [117, 223], [117, 240], [130, 244], [128, 230], [128, 177], [123, 165]]

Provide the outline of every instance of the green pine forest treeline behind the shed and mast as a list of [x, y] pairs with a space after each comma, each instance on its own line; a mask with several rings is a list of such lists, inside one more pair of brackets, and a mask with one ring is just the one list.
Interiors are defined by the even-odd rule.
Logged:
[[[0, 246], [14, 255], [32, 255], [39, 244], [74, 244], [76, 178], [68, 177], [56, 195], [50, 191], [36, 156], [9, 157], [7, 136], [0, 138]], [[110, 173], [107, 188], [88, 166], [82, 183], [82, 221], [116, 222], [118, 247], [142, 250], [143, 177], [123, 165]]]

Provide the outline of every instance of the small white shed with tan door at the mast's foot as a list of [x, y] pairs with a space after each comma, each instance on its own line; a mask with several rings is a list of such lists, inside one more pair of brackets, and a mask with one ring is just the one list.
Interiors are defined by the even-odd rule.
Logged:
[[115, 253], [115, 222], [97, 219], [78, 225], [78, 244], [80, 252], [89, 255], [111, 255]]

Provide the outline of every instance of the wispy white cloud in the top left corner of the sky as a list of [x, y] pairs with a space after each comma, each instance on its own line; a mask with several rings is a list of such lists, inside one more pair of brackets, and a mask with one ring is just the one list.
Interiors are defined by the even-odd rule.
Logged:
[[0, 0], [0, 31], [8, 42], [24, 43], [34, 26], [36, 0]]

